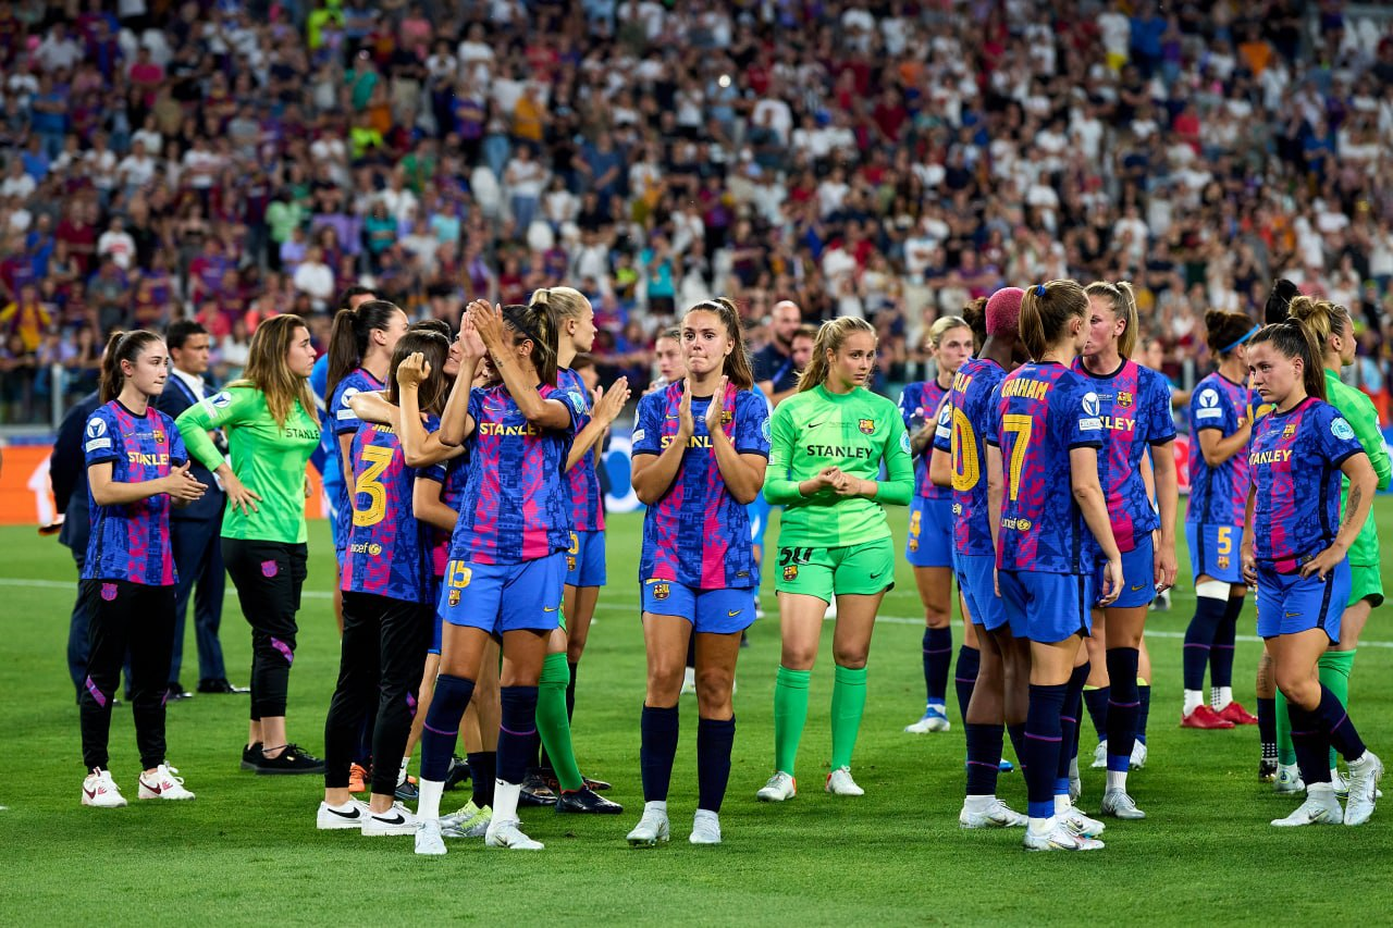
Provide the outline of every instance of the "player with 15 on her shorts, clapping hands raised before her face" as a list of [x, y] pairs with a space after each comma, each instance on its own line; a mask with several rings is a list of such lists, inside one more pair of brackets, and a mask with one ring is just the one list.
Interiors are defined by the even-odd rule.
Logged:
[[[440, 794], [485, 645], [503, 640], [497, 779], [489, 847], [540, 850], [522, 833], [518, 794], [536, 733], [538, 679], [559, 624], [571, 507], [567, 453], [585, 400], [556, 386], [556, 314], [475, 301], [460, 330], [464, 358], [440, 421], [446, 446], [468, 442], [468, 479], [442, 589], [440, 676], [421, 737], [418, 854], [443, 854]], [[488, 358], [495, 386], [471, 389]], [[540, 385], [540, 386], [538, 386]]]

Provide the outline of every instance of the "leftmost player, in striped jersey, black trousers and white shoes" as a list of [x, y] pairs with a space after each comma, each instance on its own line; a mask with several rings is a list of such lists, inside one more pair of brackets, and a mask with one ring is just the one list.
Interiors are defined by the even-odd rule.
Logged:
[[131, 706], [141, 751], [141, 798], [191, 800], [164, 761], [164, 694], [174, 641], [174, 555], [170, 504], [208, 489], [189, 474], [174, 422], [155, 408], [169, 376], [169, 351], [153, 332], [113, 334], [102, 359], [102, 405], [88, 418], [84, 453], [92, 534], [82, 566], [91, 614], [88, 676], [78, 701], [82, 804], [120, 808], [107, 743], [111, 701], [127, 649]]

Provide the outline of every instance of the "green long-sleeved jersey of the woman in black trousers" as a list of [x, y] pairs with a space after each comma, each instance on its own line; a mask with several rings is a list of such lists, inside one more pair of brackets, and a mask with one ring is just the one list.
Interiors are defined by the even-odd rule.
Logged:
[[210, 471], [223, 464], [209, 429], [223, 429], [233, 474], [260, 496], [256, 511], [231, 506], [223, 513], [223, 538], [304, 543], [305, 464], [319, 444], [319, 422], [297, 400], [276, 425], [266, 394], [233, 386], [188, 407], [174, 422], [189, 454]]

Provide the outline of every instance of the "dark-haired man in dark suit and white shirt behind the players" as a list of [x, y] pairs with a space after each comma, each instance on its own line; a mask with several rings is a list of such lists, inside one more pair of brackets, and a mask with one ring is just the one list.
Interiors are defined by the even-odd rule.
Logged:
[[[177, 419], [195, 403], [212, 396], [213, 389], [203, 379], [208, 373], [208, 330], [199, 323], [185, 319], [169, 327], [164, 341], [170, 350], [171, 371], [164, 382], [164, 392], [156, 401], [160, 412]], [[221, 435], [215, 440], [226, 447]], [[223, 623], [223, 592], [227, 588], [227, 574], [223, 570], [223, 504], [227, 502], [223, 488], [217, 485], [206, 467], [196, 460], [192, 474], [208, 492], [198, 502], [176, 509], [170, 514], [170, 536], [174, 545], [174, 567], [178, 571], [178, 585], [174, 588], [174, 649], [170, 654], [170, 699], [187, 699], [194, 695], [184, 690], [178, 672], [184, 658], [184, 620], [188, 616], [188, 599], [194, 592], [194, 635], [198, 641], [198, 691], [199, 693], [247, 693], [227, 681], [227, 667], [223, 663], [223, 644], [217, 638]], [[195, 582], [198, 588], [195, 591]]]

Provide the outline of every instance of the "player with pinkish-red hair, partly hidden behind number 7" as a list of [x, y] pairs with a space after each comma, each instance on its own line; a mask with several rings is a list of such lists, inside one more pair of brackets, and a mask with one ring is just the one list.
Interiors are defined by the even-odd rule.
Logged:
[[1024, 651], [1025, 642], [1011, 634], [1006, 609], [996, 595], [996, 549], [982, 472], [992, 393], [1021, 353], [1017, 329], [1024, 295], [1020, 287], [1003, 287], [983, 300], [981, 309], [971, 309], [970, 318], [982, 316], [982, 348], [975, 358], [964, 361], [953, 378], [947, 397], [950, 411], [946, 417], [940, 414], [929, 458], [929, 479], [953, 490], [953, 569], [965, 614], [974, 626], [981, 626], [974, 635], [978, 647], [970, 649], [964, 637], [953, 674], [967, 734], [967, 796], [958, 825], [972, 829], [1025, 825], [1024, 815], [996, 797], [1007, 729], [1017, 757], [1024, 755], [1029, 655]]

